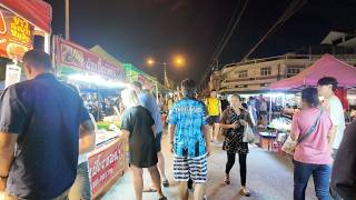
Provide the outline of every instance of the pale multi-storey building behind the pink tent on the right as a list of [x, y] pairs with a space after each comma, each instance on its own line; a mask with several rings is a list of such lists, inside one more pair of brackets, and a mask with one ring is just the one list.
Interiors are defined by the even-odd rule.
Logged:
[[[332, 31], [318, 47], [301, 48], [295, 53], [278, 57], [227, 64], [211, 74], [209, 88], [221, 93], [265, 92], [269, 90], [270, 83], [298, 74], [325, 53], [356, 66], [356, 44], [350, 44], [356, 41], [355, 36]], [[342, 42], [335, 43], [335, 41]]]

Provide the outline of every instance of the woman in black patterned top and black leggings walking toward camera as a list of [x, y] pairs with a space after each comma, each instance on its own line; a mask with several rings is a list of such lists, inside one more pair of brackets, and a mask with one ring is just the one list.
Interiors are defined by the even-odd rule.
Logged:
[[233, 94], [230, 107], [222, 112], [220, 127], [224, 129], [225, 141], [222, 150], [227, 152], [227, 163], [225, 169], [225, 183], [230, 184], [229, 172], [235, 163], [236, 153], [238, 153], [240, 164], [241, 196], [249, 197], [250, 193], [246, 188], [246, 158], [248, 153], [248, 143], [243, 141], [246, 126], [251, 126], [249, 113], [241, 106], [241, 98]]

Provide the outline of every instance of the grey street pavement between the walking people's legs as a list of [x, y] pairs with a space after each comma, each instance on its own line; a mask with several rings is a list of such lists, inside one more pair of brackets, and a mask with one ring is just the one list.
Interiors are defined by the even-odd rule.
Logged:
[[[172, 154], [169, 150], [167, 134], [162, 137], [162, 152], [166, 157], [166, 176], [171, 186], [164, 188], [164, 192], [170, 200], [178, 199], [178, 188], [172, 181]], [[226, 152], [221, 144], [212, 146], [212, 153], [208, 163], [208, 200], [289, 200], [293, 199], [293, 164], [289, 158], [278, 156], [276, 152], [263, 150], [258, 147], [250, 147], [247, 156], [247, 187], [251, 191], [250, 197], [240, 197], [239, 164], [238, 159], [230, 172], [231, 184], [224, 183], [226, 164]], [[150, 183], [149, 174], [144, 172], [145, 186]], [[126, 174], [102, 197], [103, 200], [122, 199], [135, 200], [131, 172]], [[158, 199], [156, 193], [144, 193], [144, 200]], [[190, 193], [192, 199], [192, 193]], [[310, 179], [306, 191], [306, 199], [317, 199], [314, 192], [314, 183]]]

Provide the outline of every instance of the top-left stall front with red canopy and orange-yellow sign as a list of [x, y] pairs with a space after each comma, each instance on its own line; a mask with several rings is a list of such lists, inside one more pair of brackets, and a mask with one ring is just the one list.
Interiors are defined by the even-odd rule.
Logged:
[[50, 51], [50, 4], [42, 0], [0, 0], [0, 89], [21, 80], [21, 60], [43, 38], [41, 48]]

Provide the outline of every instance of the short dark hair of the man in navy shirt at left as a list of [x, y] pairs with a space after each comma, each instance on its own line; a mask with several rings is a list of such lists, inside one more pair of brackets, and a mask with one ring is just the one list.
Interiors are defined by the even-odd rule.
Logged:
[[52, 70], [51, 57], [47, 52], [40, 49], [32, 49], [27, 51], [23, 54], [22, 61], [30, 63], [34, 68]]

